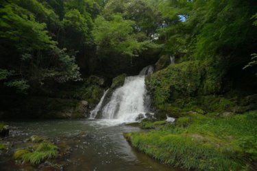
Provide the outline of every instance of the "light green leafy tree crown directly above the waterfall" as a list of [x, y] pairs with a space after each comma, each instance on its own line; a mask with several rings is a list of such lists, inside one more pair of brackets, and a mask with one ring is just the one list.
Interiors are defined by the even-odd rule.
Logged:
[[102, 16], [98, 16], [93, 31], [97, 51], [103, 54], [113, 51], [121, 55], [138, 55], [147, 42], [136, 40], [132, 25], [134, 25], [134, 21], [124, 20], [121, 14], [112, 15], [111, 21], [106, 21]]

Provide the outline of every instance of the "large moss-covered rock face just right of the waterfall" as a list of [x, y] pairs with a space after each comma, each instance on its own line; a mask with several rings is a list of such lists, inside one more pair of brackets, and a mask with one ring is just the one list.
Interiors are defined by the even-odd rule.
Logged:
[[164, 119], [166, 114], [173, 117], [186, 116], [188, 111], [222, 114], [256, 109], [256, 95], [221, 95], [221, 85], [217, 79], [216, 75], [212, 75], [211, 68], [200, 61], [171, 64], [149, 75], [146, 86], [153, 99], [156, 118]]

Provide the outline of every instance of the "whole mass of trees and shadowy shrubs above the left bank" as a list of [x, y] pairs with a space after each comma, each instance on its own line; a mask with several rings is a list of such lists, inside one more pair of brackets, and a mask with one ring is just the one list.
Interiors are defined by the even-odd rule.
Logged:
[[81, 80], [75, 57], [53, 40], [60, 21], [47, 3], [3, 1], [0, 12], [0, 79], [5, 86], [26, 94], [28, 88], [42, 86], [47, 79], [59, 83]]

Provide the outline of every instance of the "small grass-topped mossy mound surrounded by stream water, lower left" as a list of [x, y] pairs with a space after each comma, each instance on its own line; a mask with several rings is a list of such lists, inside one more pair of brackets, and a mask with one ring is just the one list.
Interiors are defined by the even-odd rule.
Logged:
[[22, 161], [33, 165], [39, 164], [45, 159], [50, 159], [58, 156], [58, 147], [49, 143], [42, 142], [34, 146], [34, 151], [17, 150], [14, 153], [14, 159], [22, 159]]

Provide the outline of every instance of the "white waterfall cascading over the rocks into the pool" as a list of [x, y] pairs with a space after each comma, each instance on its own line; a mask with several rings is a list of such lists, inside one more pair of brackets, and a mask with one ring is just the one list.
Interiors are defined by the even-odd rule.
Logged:
[[[103, 99], [98, 104], [98, 110], [101, 109], [102, 119], [108, 122], [123, 123], [134, 122], [139, 114], [147, 112], [147, 90], [145, 88], [145, 75], [153, 73], [154, 67], [147, 66], [140, 71], [139, 75], [126, 77], [122, 87], [117, 88], [112, 93], [110, 101], [101, 107]], [[105, 94], [102, 98], [105, 98]], [[97, 106], [98, 106], [97, 105]], [[97, 108], [97, 107], [96, 107]], [[94, 109], [95, 110], [95, 109]], [[95, 118], [96, 114], [93, 114]]]

